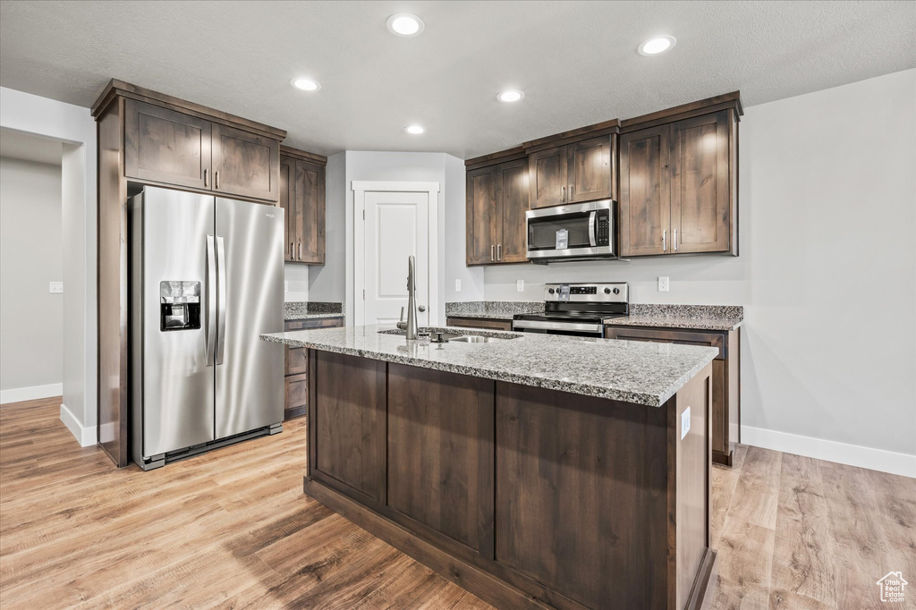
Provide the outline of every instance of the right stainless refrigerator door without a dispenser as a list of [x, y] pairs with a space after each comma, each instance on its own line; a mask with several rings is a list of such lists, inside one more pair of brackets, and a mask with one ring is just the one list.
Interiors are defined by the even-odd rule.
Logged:
[[283, 420], [283, 210], [216, 199], [216, 438]]

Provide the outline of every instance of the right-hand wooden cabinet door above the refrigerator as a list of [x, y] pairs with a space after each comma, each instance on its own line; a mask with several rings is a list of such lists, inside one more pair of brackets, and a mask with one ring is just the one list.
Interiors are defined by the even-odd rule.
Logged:
[[214, 123], [213, 190], [277, 202], [279, 149], [278, 140]]

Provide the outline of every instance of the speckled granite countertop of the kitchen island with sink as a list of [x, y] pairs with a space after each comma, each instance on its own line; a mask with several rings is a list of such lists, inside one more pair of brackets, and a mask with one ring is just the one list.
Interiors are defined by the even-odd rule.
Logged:
[[[714, 347], [609, 341], [538, 333], [496, 343], [407, 341], [391, 326], [350, 326], [261, 335], [266, 341], [422, 366], [460, 375], [660, 407], [718, 354]], [[434, 328], [433, 330], [446, 330]]]

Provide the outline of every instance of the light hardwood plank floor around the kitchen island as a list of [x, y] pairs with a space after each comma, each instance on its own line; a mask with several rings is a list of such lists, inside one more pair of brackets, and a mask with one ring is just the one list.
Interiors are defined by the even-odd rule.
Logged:
[[[0, 407], [4, 610], [489, 607], [302, 494], [302, 419], [144, 473], [59, 414]], [[887, 607], [891, 570], [916, 607], [912, 479], [754, 447], [713, 474], [714, 608]]]

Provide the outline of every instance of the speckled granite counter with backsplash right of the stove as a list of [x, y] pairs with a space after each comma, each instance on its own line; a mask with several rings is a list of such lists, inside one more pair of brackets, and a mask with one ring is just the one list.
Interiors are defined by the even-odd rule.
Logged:
[[734, 331], [744, 322], [740, 305], [654, 305], [630, 303], [630, 314], [614, 318], [615, 326], [660, 326], [698, 331]]

